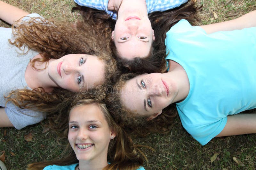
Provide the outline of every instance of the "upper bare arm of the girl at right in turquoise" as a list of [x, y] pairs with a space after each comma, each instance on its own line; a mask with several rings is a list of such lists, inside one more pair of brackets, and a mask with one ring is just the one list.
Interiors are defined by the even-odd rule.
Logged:
[[256, 26], [256, 10], [249, 12], [242, 17], [215, 23], [209, 25], [201, 25], [200, 27], [205, 30], [207, 34], [217, 32], [217, 31], [232, 31], [241, 30], [243, 28], [255, 27]]

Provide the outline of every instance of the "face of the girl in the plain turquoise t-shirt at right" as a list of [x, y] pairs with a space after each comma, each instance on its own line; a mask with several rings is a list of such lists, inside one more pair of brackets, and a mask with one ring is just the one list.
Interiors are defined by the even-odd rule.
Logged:
[[152, 73], [126, 81], [124, 92], [121, 94], [121, 101], [125, 108], [153, 119], [172, 103], [177, 88], [166, 74]]

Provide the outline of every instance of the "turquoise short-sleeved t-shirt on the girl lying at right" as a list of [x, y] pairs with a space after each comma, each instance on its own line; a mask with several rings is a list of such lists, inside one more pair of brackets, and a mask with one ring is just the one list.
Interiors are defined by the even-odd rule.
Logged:
[[176, 103], [183, 127], [202, 145], [218, 135], [227, 116], [256, 107], [256, 27], [206, 34], [180, 20], [165, 39], [167, 60], [188, 74], [190, 90]]

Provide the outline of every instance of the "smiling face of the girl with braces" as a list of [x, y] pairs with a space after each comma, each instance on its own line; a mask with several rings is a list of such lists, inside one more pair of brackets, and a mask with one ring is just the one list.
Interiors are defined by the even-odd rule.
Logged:
[[115, 135], [97, 104], [71, 109], [68, 126], [68, 141], [79, 161], [97, 159], [107, 163], [108, 144]]

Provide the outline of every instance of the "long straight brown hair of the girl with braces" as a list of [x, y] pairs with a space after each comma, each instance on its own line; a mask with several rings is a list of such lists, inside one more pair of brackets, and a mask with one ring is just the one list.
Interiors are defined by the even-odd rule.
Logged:
[[[100, 100], [93, 99], [82, 99], [75, 102], [72, 102], [70, 105], [70, 109], [68, 112], [80, 105], [84, 104], [97, 104], [103, 113], [105, 119], [108, 122], [109, 127], [115, 131], [116, 137], [110, 140], [108, 146], [108, 164], [104, 169], [112, 170], [112, 169], [124, 169], [124, 170], [132, 170], [137, 169], [143, 165], [144, 161], [147, 161], [146, 156], [143, 152], [140, 151], [140, 145], [134, 145], [130, 136], [114, 121], [114, 119], [109, 114], [106, 105], [101, 103]], [[67, 114], [69, 115], [69, 114]], [[68, 116], [67, 116], [68, 117]], [[68, 119], [65, 121], [65, 134], [66, 138], [68, 135]], [[65, 155], [65, 156], [64, 156]], [[63, 157], [64, 156], [64, 157]], [[78, 163], [76, 159], [76, 154], [71, 148], [69, 144], [67, 144], [66, 150], [62, 153], [61, 159], [56, 159], [52, 161], [45, 162], [36, 162], [28, 165], [28, 170], [39, 170], [43, 169], [47, 165], [71, 165], [74, 163]]]

